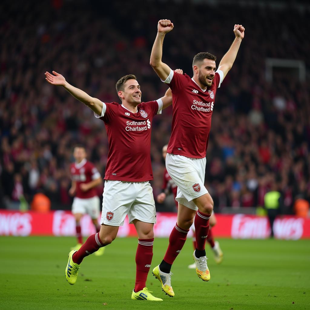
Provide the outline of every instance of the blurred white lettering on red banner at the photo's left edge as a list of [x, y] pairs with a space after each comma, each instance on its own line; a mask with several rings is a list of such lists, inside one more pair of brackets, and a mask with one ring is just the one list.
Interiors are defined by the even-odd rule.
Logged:
[[29, 213], [0, 214], [0, 235], [29, 236], [31, 221]]

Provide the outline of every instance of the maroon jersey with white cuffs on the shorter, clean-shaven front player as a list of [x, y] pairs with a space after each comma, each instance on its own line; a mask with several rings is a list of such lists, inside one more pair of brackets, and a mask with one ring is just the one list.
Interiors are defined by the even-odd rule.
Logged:
[[162, 100], [142, 102], [137, 109], [133, 113], [116, 102], [103, 104], [100, 119], [109, 141], [105, 180], [153, 180], [151, 128], [153, 117], [162, 113]]

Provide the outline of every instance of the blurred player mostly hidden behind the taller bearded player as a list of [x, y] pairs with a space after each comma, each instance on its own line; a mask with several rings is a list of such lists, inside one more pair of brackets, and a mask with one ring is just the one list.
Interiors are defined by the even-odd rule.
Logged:
[[[166, 155], [167, 155], [167, 148], [168, 148], [168, 144], [164, 145], [162, 148], [162, 157], [164, 158], [165, 161], [166, 161]], [[164, 171], [163, 183], [162, 184], [163, 184], [162, 185], [162, 193], [157, 195], [157, 202], [163, 203], [165, 201], [167, 195], [169, 195], [170, 193], [173, 193], [176, 210], [178, 210], [178, 201], [175, 200], [178, 187], [175, 185], [173, 179], [171, 179], [171, 177], [167, 171], [167, 168], [165, 168], [165, 171]], [[212, 212], [212, 214], [210, 216], [210, 227], [209, 227], [208, 237], [206, 239], [207, 239], [207, 242], [210, 244], [210, 247], [213, 251], [215, 262], [219, 264], [223, 260], [223, 252], [219, 246], [219, 242], [215, 241], [214, 237], [213, 237], [211, 227], [213, 227], [215, 224], [216, 224], [216, 218], [215, 218], [214, 212]], [[194, 250], [196, 250], [196, 237], [195, 237], [194, 225], [192, 225], [190, 229], [192, 229], [192, 232], [193, 232], [193, 247], [194, 247]], [[188, 268], [195, 269], [196, 264], [192, 263], [192, 264], [188, 265]]]

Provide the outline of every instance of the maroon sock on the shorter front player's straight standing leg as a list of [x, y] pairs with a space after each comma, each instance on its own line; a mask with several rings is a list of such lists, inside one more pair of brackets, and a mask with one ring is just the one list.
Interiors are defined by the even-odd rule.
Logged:
[[136, 252], [136, 280], [135, 292], [143, 290], [150, 270], [153, 257], [152, 239], [138, 239], [138, 247]]

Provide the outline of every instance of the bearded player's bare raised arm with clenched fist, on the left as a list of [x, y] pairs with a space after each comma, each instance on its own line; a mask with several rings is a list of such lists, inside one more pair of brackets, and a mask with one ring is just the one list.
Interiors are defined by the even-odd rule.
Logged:
[[170, 20], [159, 20], [157, 24], [157, 35], [152, 47], [150, 65], [157, 75], [165, 81], [170, 73], [170, 68], [162, 62], [162, 44], [165, 34], [173, 29], [173, 23]]

